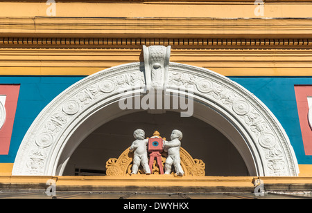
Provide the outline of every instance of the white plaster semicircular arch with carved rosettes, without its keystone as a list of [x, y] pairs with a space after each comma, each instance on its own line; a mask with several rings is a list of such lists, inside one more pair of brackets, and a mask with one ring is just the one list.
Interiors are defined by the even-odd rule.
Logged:
[[[67, 160], [97, 127], [131, 113], [116, 104], [143, 93], [144, 63], [123, 64], [85, 77], [49, 103], [21, 142], [12, 175], [62, 175]], [[205, 68], [169, 63], [166, 89], [193, 90], [194, 114], [221, 131], [238, 149], [252, 176], [297, 176], [293, 147], [277, 118], [257, 97]], [[131, 90], [129, 90], [129, 88]], [[173, 127], [174, 128], [174, 127]], [[104, 165], [103, 165], [104, 166]]]

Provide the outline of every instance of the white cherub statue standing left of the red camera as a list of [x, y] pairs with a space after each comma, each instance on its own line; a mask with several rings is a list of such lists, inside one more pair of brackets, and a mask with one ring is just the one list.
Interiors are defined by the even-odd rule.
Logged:
[[130, 147], [130, 151], [134, 151], [133, 165], [131, 174], [137, 174], [139, 166], [142, 165], [145, 174], [150, 174], [150, 167], [148, 166], [148, 154], [147, 154], [147, 144], [148, 139], [145, 138], [145, 132], [142, 129], [137, 129], [133, 136], [135, 137], [134, 142]]

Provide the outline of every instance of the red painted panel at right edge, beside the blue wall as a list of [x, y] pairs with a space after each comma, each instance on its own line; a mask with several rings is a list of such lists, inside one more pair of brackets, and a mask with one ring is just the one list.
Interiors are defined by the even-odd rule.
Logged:
[[297, 109], [304, 143], [304, 152], [306, 155], [312, 155], [312, 130], [309, 125], [308, 97], [312, 96], [312, 86], [295, 86], [295, 95], [297, 100]]

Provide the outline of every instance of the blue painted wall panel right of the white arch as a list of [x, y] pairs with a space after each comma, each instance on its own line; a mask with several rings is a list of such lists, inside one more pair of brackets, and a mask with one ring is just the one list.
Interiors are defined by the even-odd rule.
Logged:
[[304, 154], [302, 134], [295, 98], [295, 85], [312, 84], [312, 77], [229, 77], [257, 96], [281, 123], [299, 164], [312, 164]]

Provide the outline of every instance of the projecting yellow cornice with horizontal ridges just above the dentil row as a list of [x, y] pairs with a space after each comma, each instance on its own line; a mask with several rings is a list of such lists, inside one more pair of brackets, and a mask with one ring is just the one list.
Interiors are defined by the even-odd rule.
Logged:
[[312, 37], [312, 18], [0, 17], [0, 36], [309, 39]]

